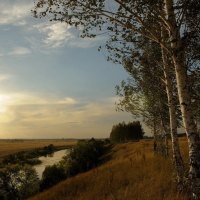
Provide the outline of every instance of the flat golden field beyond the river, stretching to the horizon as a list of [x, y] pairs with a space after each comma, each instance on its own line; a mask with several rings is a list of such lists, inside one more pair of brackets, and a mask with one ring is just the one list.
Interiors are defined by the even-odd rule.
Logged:
[[53, 144], [55, 146], [74, 145], [76, 140], [52, 139], [52, 140], [0, 140], [0, 160], [10, 154], [19, 151], [40, 148]]

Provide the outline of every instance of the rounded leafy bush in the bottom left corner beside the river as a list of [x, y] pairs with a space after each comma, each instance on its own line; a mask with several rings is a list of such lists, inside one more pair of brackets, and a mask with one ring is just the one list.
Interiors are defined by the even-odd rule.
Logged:
[[7, 166], [0, 171], [0, 199], [22, 200], [39, 191], [36, 171], [28, 166]]

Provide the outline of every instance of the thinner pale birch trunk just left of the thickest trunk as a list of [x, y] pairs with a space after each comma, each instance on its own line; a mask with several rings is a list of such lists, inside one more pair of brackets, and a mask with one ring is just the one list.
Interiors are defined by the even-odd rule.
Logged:
[[[166, 42], [166, 32], [162, 30], [162, 42]], [[173, 154], [173, 161], [176, 169], [177, 181], [178, 183], [183, 183], [184, 177], [184, 164], [183, 159], [180, 152], [178, 135], [177, 135], [177, 118], [176, 118], [176, 106], [175, 100], [173, 95], [173, 85], [170, 78], [170, 65], [167, 58], [166, 50], [161, 47], [162, 52], [162, 60], [163, 60], [163, 71], [166, 83], [166, 92], [167, 92], [167, 99], [168, 99], [168, 106], [169, 106], [169, 117], [170, 117], [170, 133], [172, 139], [172, 154]]]

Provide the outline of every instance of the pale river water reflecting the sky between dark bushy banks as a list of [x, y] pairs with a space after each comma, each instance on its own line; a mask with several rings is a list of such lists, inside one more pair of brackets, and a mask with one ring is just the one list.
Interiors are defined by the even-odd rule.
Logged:
[[64, 150], [54, 152], [51, 156], [39, 157], [39, 160], [41, 160], [42, 163], [34, 166], [34, 168], [39, 176], [39, 179], [42, 178], [42, 173], [46, 166], [58, 163], [62, 159], [62, 157], [66, 155], [67, 152], [69, 152], [69, 150], [64, 149]]

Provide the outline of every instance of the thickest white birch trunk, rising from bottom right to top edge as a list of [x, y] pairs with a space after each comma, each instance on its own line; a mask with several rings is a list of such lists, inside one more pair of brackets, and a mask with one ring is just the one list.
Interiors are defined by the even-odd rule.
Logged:
[[181, 42], [180, 27], [178, 27], [176, 23], [173, 0], [165, 0], [165, 4], [168, 22], [170, 23], [170, 45], [176, 72], [178, 97], [189, 145], [189, 178], [191, 181], [191, 190], [193, 199], [200, 200], [200, 137], [196, 131], [196, 125], [191, 110], [185, 53]]

